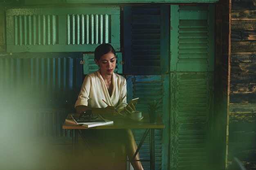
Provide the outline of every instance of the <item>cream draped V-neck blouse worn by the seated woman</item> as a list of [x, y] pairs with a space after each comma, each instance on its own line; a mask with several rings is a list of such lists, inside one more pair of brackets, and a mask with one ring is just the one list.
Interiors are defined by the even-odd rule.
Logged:
[[93, 72], [85, 76], [81, 91], [76, 100], [76, 106], [85, 105], [93, 108], [107, 107], [104, 99], [108, 105], [117, 108], [117, 111], [122, 111], [126, 107], [126, 79], [116, 73], [112, 74], [113, 90], [112, 95], [108, 94], [107, 86], [100, 74], [100, 71]]

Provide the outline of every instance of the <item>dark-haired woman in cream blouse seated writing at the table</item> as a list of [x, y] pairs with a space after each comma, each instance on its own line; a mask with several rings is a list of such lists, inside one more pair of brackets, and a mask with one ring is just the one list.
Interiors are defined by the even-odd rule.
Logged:
[[[131, 112], [135, 110], [133, 105], [126, 103], [126, 79], [123, 76], [114, 73], [116, 67], [116, 53], [110, 44], [101, 44], [94, 51], [94, 61], [99, 66], [97, 72], [88, 74], [81, 87], [75, 107], [76, 112], [81, 113], [88, 109], [92, 113], [100, 113], [105, 115], [117, 114], [117, 112]], [[105, 100], [106, 103], [103, 102]], [[99, 140], [109, 139], [108, 141], [99, 142], [109, 148], [115, 147], [115, 157], [126, 160], [126, 155], [131, 160], [137, 145], [134, 136], [130, 129], [115, 129], [115, 130], [86, 130], [87, 138], [96, 138], [94, 143]], [[97, 139], [98, 138], [98, 139]], [[95, 142], [96, 141], [96, 142]], [[135, 160], [139, 159], [137, 154]], [[121, 161], [119, 168], [126, 167], [126, 161]], [[140, 161], [131, 162], [135, 170], [143, 170]]]

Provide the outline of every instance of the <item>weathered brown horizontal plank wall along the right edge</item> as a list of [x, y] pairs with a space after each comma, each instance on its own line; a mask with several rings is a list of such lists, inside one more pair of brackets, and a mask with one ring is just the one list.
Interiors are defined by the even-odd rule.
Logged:
[[256, 169], [256, 0], [231, 2], [228, 161]]

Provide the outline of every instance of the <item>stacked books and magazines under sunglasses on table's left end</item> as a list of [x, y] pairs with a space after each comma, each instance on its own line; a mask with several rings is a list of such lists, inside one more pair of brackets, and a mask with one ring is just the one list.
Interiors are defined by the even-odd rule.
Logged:
[[114, 123], [114, 121], [105, 119], [99, 114], [93, 114], [93, 117], [94, 117], [94, 119], [88, 120], [88, 119], [84, 119], [84, 118], [79, 119], [79, 115], [71, 115], [71, 118], [70, 117], [66, 118], [66, 122], [69, 122], [72, 124], [79, 124], [79, 125], [85, 126], [87, 128]]

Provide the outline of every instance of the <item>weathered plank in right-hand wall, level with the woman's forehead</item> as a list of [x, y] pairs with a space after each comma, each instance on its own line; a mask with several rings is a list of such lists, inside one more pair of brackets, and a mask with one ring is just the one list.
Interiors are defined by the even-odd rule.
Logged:
[[231, 53], [230, 62], [232, 62], [232, 63], [255, 63], [256, 62], [256, 52]]

